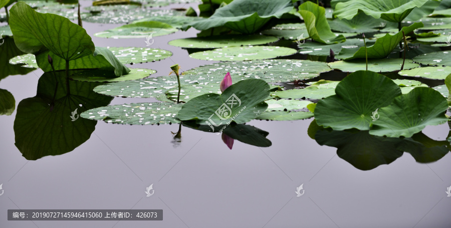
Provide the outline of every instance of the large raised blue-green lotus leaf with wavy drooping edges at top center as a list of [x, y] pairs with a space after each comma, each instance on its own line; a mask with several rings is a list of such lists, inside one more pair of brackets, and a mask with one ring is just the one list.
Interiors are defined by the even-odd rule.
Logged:
[[293, 4], [291, 0], [235, 0], [227, 6], [217, 9], [211, 17], [190, 23], [183, 27], [183, 30], [187, 30], [190, 27], [194, 27], [197, 30], [207, 30], [225, 26], [233, 31], [253, 34], [272, 18], [280, 18], [292, 9]]

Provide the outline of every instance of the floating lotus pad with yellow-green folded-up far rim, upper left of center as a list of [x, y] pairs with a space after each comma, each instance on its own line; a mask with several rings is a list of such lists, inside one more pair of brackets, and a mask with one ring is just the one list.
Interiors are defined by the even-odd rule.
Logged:
[[178, 29], [162, 22], [137, 22], [110, 29], [104, 32], [96, 33], [94, 36], [102, 38], [147, 38], [149, 35], [153, 37], [164, 36], [177, 32]]

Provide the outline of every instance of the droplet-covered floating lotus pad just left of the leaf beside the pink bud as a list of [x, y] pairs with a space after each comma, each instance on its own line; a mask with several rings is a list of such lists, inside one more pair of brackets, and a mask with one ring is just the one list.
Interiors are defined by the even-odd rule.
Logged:
[[183, 104], [168, 102], [110, 105], [87, 110], [81, 117], [120, 124], [171, 124], [180, 123], [177, 112]]

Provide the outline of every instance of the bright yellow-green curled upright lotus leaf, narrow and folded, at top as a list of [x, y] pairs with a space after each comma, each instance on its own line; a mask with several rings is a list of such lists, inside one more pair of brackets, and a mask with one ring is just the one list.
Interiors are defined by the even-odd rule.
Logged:
[[[336, 44], [346, 41], [343, 35], [335, 36], [330, 30], [326, 19], [326, 11], [312, 2], [305, 2], [299, 6], [299, 13], [304, 19], [309, 36], [316, 42]], [[307, 38], [307, 37], [306, 37]]]

